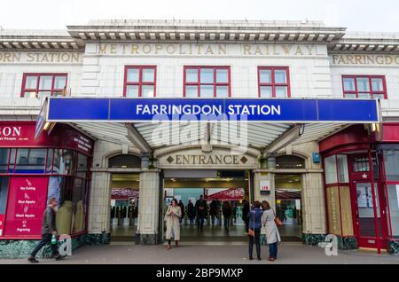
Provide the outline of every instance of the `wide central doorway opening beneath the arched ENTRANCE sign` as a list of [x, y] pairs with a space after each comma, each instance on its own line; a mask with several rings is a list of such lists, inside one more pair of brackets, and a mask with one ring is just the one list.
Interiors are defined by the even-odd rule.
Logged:
[[[184, 210], [180, 223], [181, 239], [184, 242], [245, 241], [246, 225], [242, 219], [242, 210], [244, 200], [250, 199], [249, 171], [207, 171], [206, 175], [185, 173], [166, 176], [163, 184], [162, 215], [165, 215], [171, 201], [176, 199]], [[201, 195], [207, 203], [202, 231], [199, 228], [200, 217], [196, 208]], [[223, 209], [226, 211], [229, 208], [223, 207], [230, 207], [230, 216], [223, 213]], [[166, 224], [163, 223], [164, 234], [165, 231]]]

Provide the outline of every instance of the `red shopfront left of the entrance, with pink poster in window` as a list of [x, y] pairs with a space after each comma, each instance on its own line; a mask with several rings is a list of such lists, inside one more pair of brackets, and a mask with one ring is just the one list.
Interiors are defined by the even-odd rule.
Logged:
[[0, 239], [40, 239], [50, 198], [59, 235], [87, 232], [93, 145], [63, 124], [35, 139], [35, 121], [0, 122]]

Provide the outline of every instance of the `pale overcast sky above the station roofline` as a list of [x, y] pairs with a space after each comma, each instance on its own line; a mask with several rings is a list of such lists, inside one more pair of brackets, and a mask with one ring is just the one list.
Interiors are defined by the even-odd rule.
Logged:
[[[3, 0], [0, 27], [57, 28], [91, 19], [323, 20], [399, 32], [397, 0]], [[6, 4], [5, 4], [6, 3]]]

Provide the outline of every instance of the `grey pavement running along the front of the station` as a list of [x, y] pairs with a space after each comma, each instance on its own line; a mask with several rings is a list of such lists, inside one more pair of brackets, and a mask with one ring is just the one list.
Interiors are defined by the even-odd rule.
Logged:
[[[114, 243], [107, 246], [81, 247], [61, 262], [40, 260], [41, 264], [399, 264], [398, 255], [378, 255], [375, 251], [339, 251], [325, 255], [320, 247], [301, 243], [281, 243], [278, 260], [269, 262], [268, 247], [262, 246], [262, 261], [247, 259], [244, 244], [182, 244], [167, 251], [165, 246], [136, 246]], [[256, 256], [256, 255], [254, 255]], [[2, 260], [0, 264], [26, 264], [27, 260]]]

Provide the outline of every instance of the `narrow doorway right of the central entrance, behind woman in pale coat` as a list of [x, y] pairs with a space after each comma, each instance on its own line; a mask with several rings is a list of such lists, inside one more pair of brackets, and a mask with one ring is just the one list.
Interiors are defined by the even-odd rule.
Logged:
[[275, 175], [276, 215], [283, 223], [279, 231], [280, 236], [285, 240], [301, 241], [302, 187], [300, 174]]

